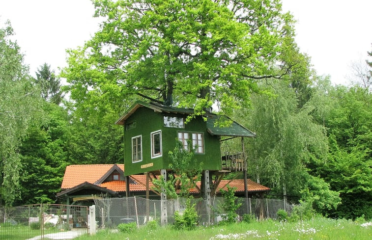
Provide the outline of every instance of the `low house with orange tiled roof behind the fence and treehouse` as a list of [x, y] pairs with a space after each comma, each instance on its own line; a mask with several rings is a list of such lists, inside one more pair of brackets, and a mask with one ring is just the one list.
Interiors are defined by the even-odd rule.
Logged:
[[[146, 187], [147, 176], [149, 175], [129, 176], [130, 195], [159, 199], [160, 193], [152, 189], [151, 180], [157, 176], [149, 176], [148, 187]], [[90, 205], [95, 198], [123, 197], [126, 195], [125, 179], [124, 164], [69, 165], [66, 167], [61, 192], [57, 193], [57, 198], [68, 205], [74, 205], [77, 202]], [[247, 183], [249, 197], [262, 197], [270, 190], [250, 179]], [[199, 195], [200, 185], [201, 183], [197, 182], [197, 186], [190, 189], [190, 193]], [[226, 190], [227, 185], [236, 188], [236, 196], [244, 196], [243, 179], [219, 181], [215, 194], [218, 195], [221, 189]]]

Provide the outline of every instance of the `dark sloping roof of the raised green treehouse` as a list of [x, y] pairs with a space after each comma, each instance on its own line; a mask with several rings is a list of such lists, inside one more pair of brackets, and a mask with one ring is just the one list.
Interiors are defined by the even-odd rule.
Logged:
[[[130, 107], [124, 115], [122, 115], [115, 124], [125, 125], [125, 121], [140, 107], [147, 107], [153, 109], [155, 112], [168, 113], [168, 114], [181, 114], [181, 115], [191, 115], [194, 113], [192, 108], [180, 108], [180, 107], [169, 107], [155, 103], [144, 103], [142, 101], [137, 101], [132, 107]], [[229, 127], [219, 127], [215, 126], [216, 121], [219, 117], [217, 114], [206, 111], [204, 116], [207, 118], [206, 126], [207, 132], [211, 135], [216, 136], [232, 136], [232, 137], [255, 137], [256, 134], [241, 126], [235, 121]], [[229, 117], [227, 117], [231, 120]]]

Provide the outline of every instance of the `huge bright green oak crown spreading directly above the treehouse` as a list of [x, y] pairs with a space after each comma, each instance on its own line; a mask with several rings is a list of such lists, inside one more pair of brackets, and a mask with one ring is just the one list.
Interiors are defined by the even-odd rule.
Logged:
[[231, 115], [259, 91], [257, 80], [281, 78], [301, 60], [279, 0], [93, 2], [101, 28], [68, 51], [62, 73], [77, 104], [137, 95], [196, 114], [217, 103]]

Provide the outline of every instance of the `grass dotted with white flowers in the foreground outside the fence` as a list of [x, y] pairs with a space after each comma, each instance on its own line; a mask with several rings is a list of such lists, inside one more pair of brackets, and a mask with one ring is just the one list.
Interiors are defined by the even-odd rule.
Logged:
[[143, 227], [132, 233], [101, 230], [94, 236], [85, 235], [75, 240], [370, 240], [371, 225], [371, 222], [362, 224], [327, 218], [299, 222], [267, 220], [200, 227], [191, 231], [161, 227]]

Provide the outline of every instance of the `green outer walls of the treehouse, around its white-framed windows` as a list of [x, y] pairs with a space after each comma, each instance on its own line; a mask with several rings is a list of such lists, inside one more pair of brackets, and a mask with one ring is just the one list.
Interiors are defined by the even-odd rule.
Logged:
[[[127, 120], [124, 125], [124, 174], [126, 176], [151, 172], [160, 169], [169, 169], [169, 151], [175, 147], [178, 132], [203, 133], [204, 153], [195, 154], [195, 160], [199, 165], [202, 162], [204, 170], [220, 170], [221, 153], [220, 141], [218, 137], [207, 133], [206, 122], [201, 117], [193, 119], [185, 125], [184, 129], [164, 127], [164, 113], [154, 112], [147, 107], [138, 108]], [[166, 115], [175, 116], [175, 115]], [[178, 115], [185, 117], [184, 115]], [[126, 125], [136, 122], [135, 127], [126, 130]], [[151, 158], [151, 133], [162, 131], [162, 156]], [[132, 137], [142, 135], [142, 161], [132, 162]]]

